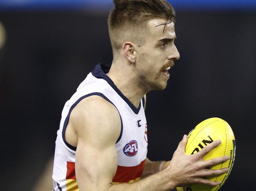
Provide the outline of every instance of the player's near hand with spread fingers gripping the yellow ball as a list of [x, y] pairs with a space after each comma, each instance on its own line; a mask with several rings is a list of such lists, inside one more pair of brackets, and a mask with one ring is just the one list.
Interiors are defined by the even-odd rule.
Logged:
[[179, 143], [169, 166], [164, 170], [171, 174], [174, 184], [179, 186], [187, 186], [191, 184], [206, 184], [209, 186], [217, 186], [220, 182], [213, 182], [205, 179], [206, 176], [216, 176], [228, 171], [228, 168], [212, 170], [206, 167], [214, 166], [228, 160], [228, 156], [213, 158], [204, 161], [203, 157], [207, 155], [215, 147], [219, 146], [220, 140], [216, 140], [204, 147], [200, 152], [193, 155], [185, 153], [187, 144], [187, 135], [184, 135], [182, 141]]

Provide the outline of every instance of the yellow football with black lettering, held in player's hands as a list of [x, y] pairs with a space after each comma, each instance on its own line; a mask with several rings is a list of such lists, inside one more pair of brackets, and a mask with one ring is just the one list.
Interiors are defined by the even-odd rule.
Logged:
[[203, 184], [194, 184], [186, 187], [177, 187], [177, 191], [217, 191], [228, 178], [235, 160], [236, 141], [231, 127], [221, 118], [206, 119], [198, 124], [188, 134], [185, 153], [193, 155], [206, 145], [215, 140], [221, 140], [221, 144], [204, 156], [204, 160], [210, 160], [224, 155], [228, 155], [230, 159], [226, 162], [210, 167], [210, 169], [221, 169], [228, 167], [229, 171], [223, 175], [207, 177], [212, 181], [220, 181], [221, 184], [215, 187]]

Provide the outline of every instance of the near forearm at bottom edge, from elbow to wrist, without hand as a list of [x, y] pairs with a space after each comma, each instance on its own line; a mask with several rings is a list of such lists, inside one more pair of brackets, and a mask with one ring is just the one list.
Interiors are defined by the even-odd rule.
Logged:
[[133, 184], [112, 185], [109, 191], [171, 191], [175, 187], [176, 185], [171, 177], [168, 176], [168, 173], [162, 171]]

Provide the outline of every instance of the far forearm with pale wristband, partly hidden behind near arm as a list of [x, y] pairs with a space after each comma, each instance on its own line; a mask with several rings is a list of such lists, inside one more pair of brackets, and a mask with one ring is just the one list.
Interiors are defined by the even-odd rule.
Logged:
[[146, 176], [153, 175], [155, 173], [158, 173], [165, 169], [169, 165], [169, 161], [150, 161], [148, 158], [146, 158], [145, 161], [145, 167], [143, 169], [142, 178], [145, 178]]

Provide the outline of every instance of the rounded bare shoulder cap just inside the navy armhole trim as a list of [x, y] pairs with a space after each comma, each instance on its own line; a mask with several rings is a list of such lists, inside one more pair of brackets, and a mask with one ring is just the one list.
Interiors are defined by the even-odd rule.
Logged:
[[77, 133], [97, 130], [107, 133], [105, 131], [121, 130], [121, 118], [117, 108], [98, 95], [82, 99], [72, 110], [70, 123]]

